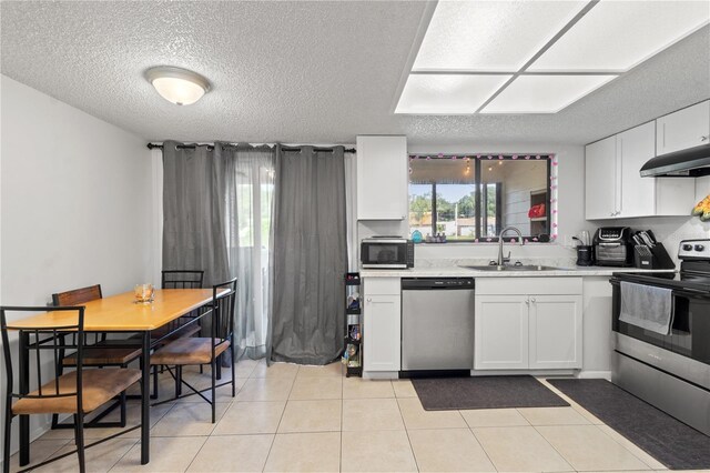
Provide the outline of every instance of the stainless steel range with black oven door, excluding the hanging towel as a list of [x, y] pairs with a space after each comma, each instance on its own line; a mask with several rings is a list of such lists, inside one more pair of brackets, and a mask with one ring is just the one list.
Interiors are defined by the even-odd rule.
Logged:
[[[710, 239], [680, 242], [676, 274], [615, 273], [611, 381], [710, 435]], [[619, 320], [622, 282], [671, 290], [668, 333]]]

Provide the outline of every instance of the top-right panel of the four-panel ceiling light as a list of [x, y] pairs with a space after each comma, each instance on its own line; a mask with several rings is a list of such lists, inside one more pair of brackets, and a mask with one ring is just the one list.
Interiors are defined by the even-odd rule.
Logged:
[[528, 70], [623, 72], [709, 21], [708, 1], [602, 0]]

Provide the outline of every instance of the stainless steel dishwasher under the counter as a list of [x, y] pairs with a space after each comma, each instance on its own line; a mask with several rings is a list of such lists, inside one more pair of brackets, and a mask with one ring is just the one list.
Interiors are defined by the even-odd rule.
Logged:
[[402, 370], [474, 369], [473, 278], [402, 280]]

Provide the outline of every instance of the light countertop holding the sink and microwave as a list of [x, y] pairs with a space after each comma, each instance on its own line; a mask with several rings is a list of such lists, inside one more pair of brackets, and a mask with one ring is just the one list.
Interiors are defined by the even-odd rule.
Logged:
[[439, 268], [410, 268], [408, 270], [361, 270], [361, 278], [549, 278], [549, 276], [610, 276], [612, 273], [668, 273], [676, 270], [641, 270], [639, 268], [572, 266], [549, 271], [481, 271], [457, 265]]

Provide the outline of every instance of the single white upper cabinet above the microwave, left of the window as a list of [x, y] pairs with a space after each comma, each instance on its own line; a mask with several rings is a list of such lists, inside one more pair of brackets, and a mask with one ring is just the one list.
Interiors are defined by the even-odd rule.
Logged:
[[357, 137], [357, 219], [407, 217], [407, 138]]

